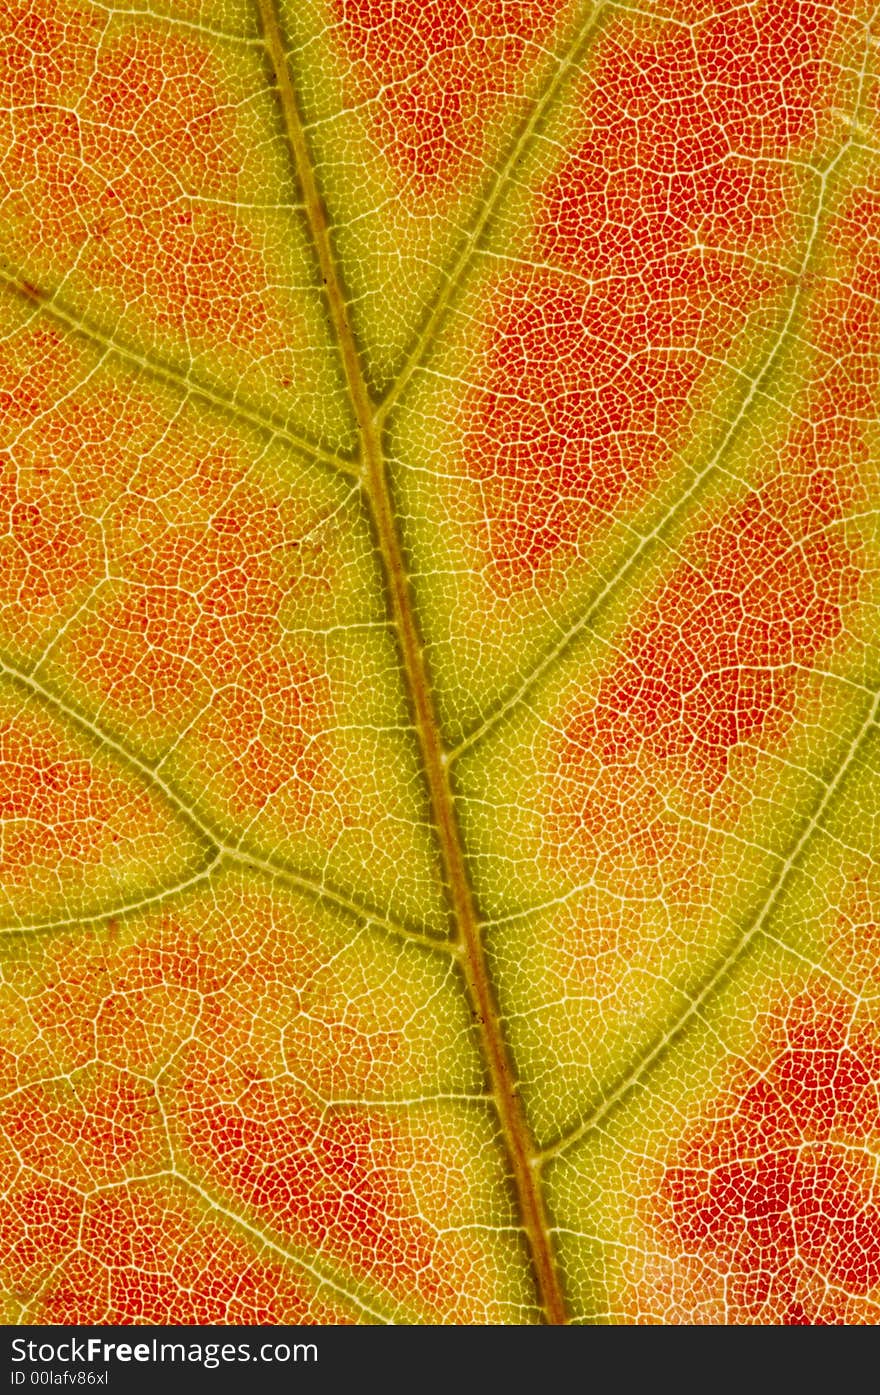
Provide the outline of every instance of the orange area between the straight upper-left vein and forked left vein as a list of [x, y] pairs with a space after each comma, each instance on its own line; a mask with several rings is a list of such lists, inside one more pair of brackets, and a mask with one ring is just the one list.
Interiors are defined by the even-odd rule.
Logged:
[[194, 441], [134, 384], [81, 385], [77, 347], [38, 326], [0, 352], [6, 643], [42, 653], [46, 625], [92, 593], [59, 653], [105, 720], [162, 751], [211, 709], [201, 739], [232, 817], [282, 788], [300, 820], [319, 790], [328, 808], [350, 804], [324, 649], [287, 636], [303, 607], [332, 601], [339, 526], [307, 490], [248, 477], [234, 431]]

